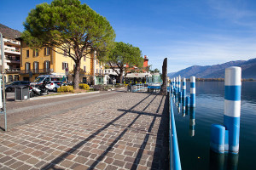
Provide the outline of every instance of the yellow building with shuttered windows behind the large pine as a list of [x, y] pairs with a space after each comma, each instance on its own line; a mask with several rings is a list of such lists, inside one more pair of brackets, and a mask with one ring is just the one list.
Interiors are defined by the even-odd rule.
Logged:
[[[58, 49], [55, 50], [58, 52]], [[39, 75], [51, 74], [67, 75], [67, 81], [73, 82], [74, 67], [73, 59], [67, 55], [56, 53], [50, 48], [35, 50], [29, 48], [27, 43], [21, 40], [20, 80], [32, 82]], [[98, 79], [103, 77], [103, 70], [98, 59], [94, 59], [94, 54], [88, 54], [81, 59], [80, 82], [93, 84], [93, 71], [95, 71], [95, 82], [98, 84]]]

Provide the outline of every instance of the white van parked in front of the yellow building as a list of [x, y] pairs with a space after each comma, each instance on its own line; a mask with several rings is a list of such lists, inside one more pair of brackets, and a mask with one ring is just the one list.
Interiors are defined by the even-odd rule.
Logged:
[[52, 81], [67, 82], [67, 77], [61, 75], [40, 75], [36, 78], [34, 82], [31, 82], [30, 85], [35, 86], [38, 84], [43, 84]]

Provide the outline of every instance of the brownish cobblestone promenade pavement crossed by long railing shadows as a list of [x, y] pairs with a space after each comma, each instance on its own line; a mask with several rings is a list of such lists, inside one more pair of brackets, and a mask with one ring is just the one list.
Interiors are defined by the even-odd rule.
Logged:
[[167, 169], [166, 97], [111, 96], [0, 133], [0, 168]]

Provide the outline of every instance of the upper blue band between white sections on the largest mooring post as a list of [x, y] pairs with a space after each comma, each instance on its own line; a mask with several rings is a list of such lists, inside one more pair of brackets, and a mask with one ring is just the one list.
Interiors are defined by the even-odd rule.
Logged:
[[241, 100], [241, 86], [225, 86], [224, 99], [233, 101]]

